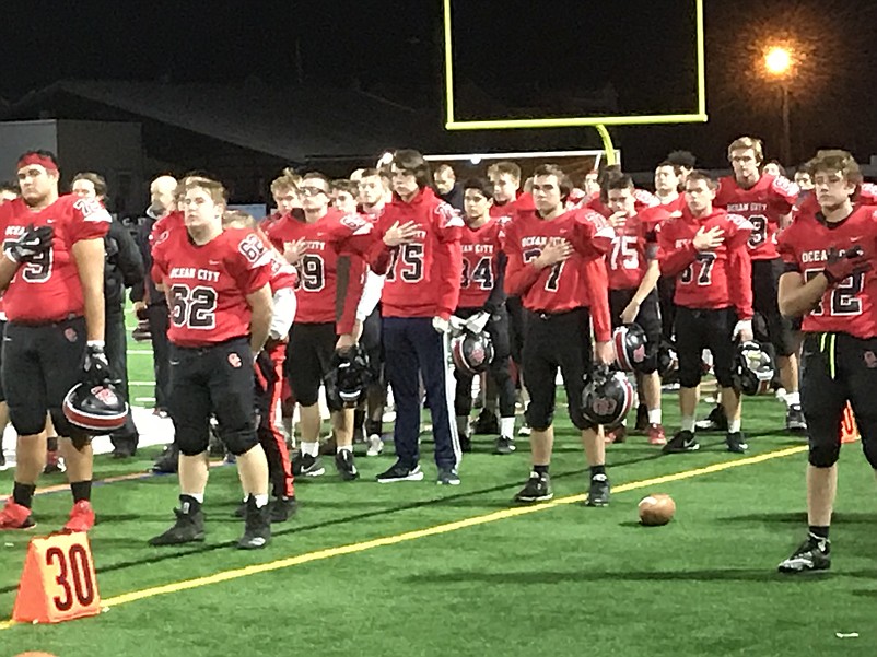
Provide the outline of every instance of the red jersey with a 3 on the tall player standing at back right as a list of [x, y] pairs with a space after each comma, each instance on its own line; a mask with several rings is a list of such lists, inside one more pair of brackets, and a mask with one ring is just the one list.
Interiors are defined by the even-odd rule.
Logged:
[[773, 260], [780, 257], [776, 253], [780, 218], [792, 212], [798, 193], [798, 186], [782, 176], [762, 175], [748, 189], [740, 187], [734, 176], [726, 176], [718, 179], [713, 204], [739, 214], [752, 224], [749, 235], [749, 256], [752, 260]]

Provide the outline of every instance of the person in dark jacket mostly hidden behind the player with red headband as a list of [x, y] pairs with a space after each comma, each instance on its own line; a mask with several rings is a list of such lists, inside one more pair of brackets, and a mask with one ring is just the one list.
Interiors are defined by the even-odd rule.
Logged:
[[[93, 172], [73, 176], [72, 192], [83, 199], [97, 199], [104, 202], [107, 192], [106, 180]], [[143, 259], [128, 230], [118, 219], [109, 224], [104, 236], [106, 262], [104, 265], [104, 313], [106, 317], [106, 355], [113, 377], [119, 382], [119, 389], [130, 402], [128, 395], [128, 342], [125, 335], [125, 289], [143, 284]], [[129, 458], [137, 451], [137, 427], [130, 412], [125, 426], [109, 436], [113, 442], [113, 456]]]

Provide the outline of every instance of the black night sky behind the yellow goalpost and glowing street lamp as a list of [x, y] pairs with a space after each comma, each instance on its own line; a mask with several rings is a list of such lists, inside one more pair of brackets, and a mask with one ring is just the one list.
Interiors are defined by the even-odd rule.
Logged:
[[[564, 114], [611, 89], [622, 113], [695, 107], [693, 0], [453, 0], [457, 82], [500, 106]], [[135, 5], [136, 7], [130, 7]], [[0, 96], [62, 79], [358, 85], [417, 107], [442, 105], [441, 0], [5, 3]], [[616, 128], [627, 162], [688, 148], [722, 165], [740, 133], [779, 150], [780, 92], [758, 74], [762, 44], [800, 44], [791, 82], [793, 157], [818, 146], [877, 153], [877, 2], [705, 0], [705, 126]], [[837, 8], [835, 5], [840, 5]], [[479, 116], [479, 105], [458, 114]], [[440, 113], [436, 113], [436, 117]], [[417, 144], [413, 144], [417, 145]], [[574, 145], [574, 144], [571, 144]], [[774, 148], [771, 149], [771, 145]], [[650, 164], [651, 163], [651, 164]], [[794, 164], [794, 163], [793, 163]]]

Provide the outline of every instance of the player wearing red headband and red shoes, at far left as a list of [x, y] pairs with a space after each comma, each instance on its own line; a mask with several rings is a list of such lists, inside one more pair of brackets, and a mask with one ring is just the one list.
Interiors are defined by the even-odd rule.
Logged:
[[[65, 529], [87, 531], [94, 525], [92, 447], [61, 407], [74, 385], [96, 385], [109, 377], [104, 354], [104, 235], [110, 216], [97, 201], [58, 195], [58, 165], [49, 152], [25, 153], [17, 171], [22, 198], [0, 207], [5, 255], [0, 289], [5, 289], [9, 318], [2, 378], [10, 420], [19, 433], [15, 484], [0, 512], [0, 529], [34, 525], [31, 504], [45, 465], [48, 411], [61, 436], [73, 493]], [[34, 226], [54, 233], [54, 238], [40, 253], [23, 256], [20, 247]]]

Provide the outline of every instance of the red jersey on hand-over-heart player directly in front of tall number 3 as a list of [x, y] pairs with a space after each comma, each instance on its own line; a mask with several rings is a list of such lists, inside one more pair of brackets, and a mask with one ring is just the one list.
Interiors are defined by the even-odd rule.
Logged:
[[[701, 226], [718, 226], [725, 240], [711, 251], [698, 251], [692, 244]], [[713, 209], [694, 218], [688, 209], [658, 227], [660, 272], [676, 277], [674, 303], [686, 308], [735, 307], [739, 319], [752, 317], [752, 263], [747, 242], [751, 224], [742, 216]]]

